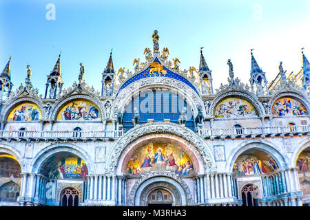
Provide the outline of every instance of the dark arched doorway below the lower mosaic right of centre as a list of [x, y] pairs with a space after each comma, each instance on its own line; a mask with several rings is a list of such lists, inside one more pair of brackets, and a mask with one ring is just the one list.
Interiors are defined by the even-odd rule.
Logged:
[[258, 206], [258, 186], [247, 184], [241, 190], [242, 206]]

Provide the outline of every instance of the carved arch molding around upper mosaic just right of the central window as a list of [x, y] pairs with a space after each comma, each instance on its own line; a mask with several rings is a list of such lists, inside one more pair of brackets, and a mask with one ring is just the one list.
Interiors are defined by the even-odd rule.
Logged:
[[262, 118], [263, 115], [265, 115], [265, 110], [264, 107], [262, 107], [262, 104], [260, 103], [260, 101], [258, 100], [258, 98], [256, 98], [256, 96], [252, 96], [251, 93], [247, 92], [240, 92], [240, 91], [228, 91], [222, 94], [219, 94], [218, 96], [216, 96], [216, 98], [214, 98], [214, 100], [211, 102], [211, 106], [209, 109], [209, 115], [214, 118], [214, 111], [215, 111], [215, 107], [218, 104], [218, 102], [220, 102], [221, 100], [225, 99], [225, 98], [229, 98], [229, 97], [233, 97], [233, 96], [237, 96], [239, 98], [245, 99], [247, 101], [249, 101], [251, 104], [253, 104], [254, 108], [257, 110], [258, 112], [258, 117]]

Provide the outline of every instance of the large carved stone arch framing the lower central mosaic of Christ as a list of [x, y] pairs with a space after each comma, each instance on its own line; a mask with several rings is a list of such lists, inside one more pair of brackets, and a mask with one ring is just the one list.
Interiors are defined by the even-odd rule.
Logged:
[[174, 142], [184, 148], [198, 174], [215, 170], [215, 160], [209, 146], [196, 133], [178, 124], [154, 122], [134, 127], [114, 144], [107, 157], [107, 172], [116, 171], [117, 175], [122, 175], [124, 162], [130, 153], [145, 142], [154, 140]]

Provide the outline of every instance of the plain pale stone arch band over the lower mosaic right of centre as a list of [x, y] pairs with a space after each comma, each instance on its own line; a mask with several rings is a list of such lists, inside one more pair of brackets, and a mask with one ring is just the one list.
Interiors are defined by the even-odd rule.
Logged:
[[226, 171], [231, 173], [238, 156], [249, 149], [257, 149], [260, 151], [264, 151], [265, 153], [269, 153], [269, 155], [271, 155], [273, 159], [276, 160], [276, 163], [281, 170], [287, 168], [288, 159], [283, 157], [283, 155], [280, 153], [280, 151], [278, 151], [276, 146], [273, 146], [273, 144], [267, 141], [249, 140], [242, 142], [242, 144], [239, 144], [236, 148], [234, 148], [233, 151], [231, 151], [229, 158], [226, 162]]

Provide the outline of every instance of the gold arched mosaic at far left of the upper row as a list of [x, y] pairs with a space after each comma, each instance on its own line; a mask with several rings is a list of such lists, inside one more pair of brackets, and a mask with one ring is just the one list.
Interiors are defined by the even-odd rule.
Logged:
[[37, 104], [33, 102], [23, 102], [14, 107], [8, 115], [8, 121], [33, 122], [42, 119], [42, 111]]

